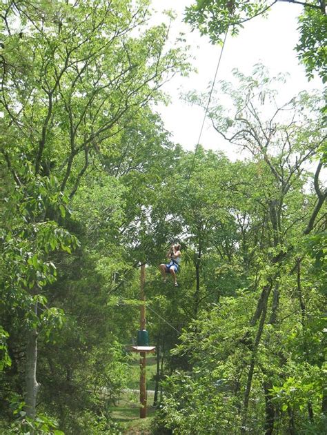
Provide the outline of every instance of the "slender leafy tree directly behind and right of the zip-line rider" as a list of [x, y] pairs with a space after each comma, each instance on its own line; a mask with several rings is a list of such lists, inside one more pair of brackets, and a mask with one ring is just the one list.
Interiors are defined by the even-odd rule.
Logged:
[[[190, 158], [193, 159], [193, 156]], [[205, 152], [201, 147], [197, 149], [194, 158], [195, 165], [188, 180], [188, 188], [186, 190], [181, 183], [183, 191], [179, 194], [183, 197], [179, 214], [187, 234], [184, 240], [194, 267], [192, 272], [188, 270], [188, 285], [192, 285], [192, 279], [195, 280], [195, 289], [189, 295], [188, 304], [188, 310], [193, 306], [192, 318], [197, 317], [203, 304], [219, 299], [220, 282], [217, 282], [217, 276], [212, 281], [210, 278], [218, 267], [219, 257], [223, 256], [224, 261], [232, 262], [237, 243], [237, 239], [231, 235], [234, 232], [234, 219], [228, 209], [229, 198], [224, 189], [230, 179], [230, 162], [224, 155]], [[186, 170], [190, 170], [190, 167], [187, 162]], [[201, 279], [206, 280], [205, 285], [202, 285]]]

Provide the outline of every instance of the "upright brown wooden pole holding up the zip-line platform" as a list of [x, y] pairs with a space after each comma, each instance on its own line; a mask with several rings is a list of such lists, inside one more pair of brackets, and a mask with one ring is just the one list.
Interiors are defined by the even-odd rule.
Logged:
[[[146, 282], [146, 265], [141, 265], [141, 307], [140, 307], [140, 330], [146, 329], [146, 294], [144, 293], [144, 284]], [[146, 418], [146, 352], [139, 352], [139, 418]]]

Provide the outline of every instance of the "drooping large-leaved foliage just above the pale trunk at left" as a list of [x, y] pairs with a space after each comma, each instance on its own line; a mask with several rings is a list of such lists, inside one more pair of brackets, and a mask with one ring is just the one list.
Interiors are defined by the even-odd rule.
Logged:
[[38, 292], [56, 280], [57, 267], [50, 255], [58, 250], [71, 252], [78, 241], [55, 221], [40, 220], [49, 206], [66, 210], [65, 197], [53, 192], [55, 179], [34, 177], [31, 172], [28, 176], [25, 185], [10, 192], [3, 212], [1, 292], [7, 309], [26, 310], [26, 325], [35, 327], [42, 318], [59, 319], [59, 312], [52, 310], [38, 320], [32, 309], [38, 303], [48, 310], [46, 296]]

